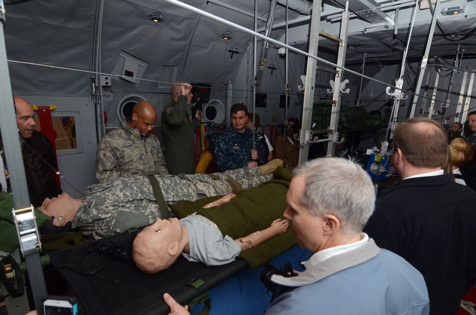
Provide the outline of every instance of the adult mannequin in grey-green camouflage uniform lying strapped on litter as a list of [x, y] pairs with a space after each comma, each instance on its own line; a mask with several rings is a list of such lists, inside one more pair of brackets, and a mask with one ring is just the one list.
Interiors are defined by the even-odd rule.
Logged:
[[[267, 170], [263, 173], [272, 171]], [[155, 178], [165, 201], [175, 203], [230, 194], [233, 190], [227, 180], [236, 180], [242, 189], [248, 189], [272, 179], [272, 175], [262, 175], [259, 167], [245, 167], [215, 173], [213, 177], [180, 174], [156, 175]], [[45, 199], [38, 209], [54, 217], [54, 226], [64, 226], [72, 221], [73, 229], [79, 228], [84, 235], [95, 239], [123, 232], [132, 226], [151, 224], [160, 218], [149, 178], [144, 176], [116, 178], [89, 186], [80, 199], [64, 193], [58, 198]]]

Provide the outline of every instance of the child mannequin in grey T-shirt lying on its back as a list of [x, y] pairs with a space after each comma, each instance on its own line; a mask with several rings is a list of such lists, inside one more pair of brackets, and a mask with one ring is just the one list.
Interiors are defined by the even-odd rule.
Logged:
[[[234, 194], [226, 195], [204, 208], [221, 206], [234, 197]], [[225, 265], [234, 261], [242, 251], [283, 234], [288, 226], [288, 220], [278, 218], [262, 231], [233, 240], [228, 235], [223, 236], [214, 222], [197, 213], [180, 220], [159, 219], [136, 236], [132, 257], [136, 265], [148, 274], [169, 268], [180, 254], [189, 261], [200, 261], [207, 266]]]

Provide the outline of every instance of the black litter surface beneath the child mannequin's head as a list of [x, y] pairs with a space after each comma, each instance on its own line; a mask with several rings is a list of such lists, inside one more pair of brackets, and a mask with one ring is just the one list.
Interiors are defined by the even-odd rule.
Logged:
[[[60, 268], [61, 275], [77, 295], [86, 315], [168, 314], [170, 309], [163, 300], [164, 293], [169, 293], [182, 305], [187, 304], [248, 267], [243, 259], [237, 259], [223, 266], [207, 267], [202, 263], [189, 262], [180, 255], [169, 269], [148, 275], [132, 261], [134, 238], [135, 236], [129, 236], [128, 232], [124, 232], [99, 240], [123, 246], [123, 250], [130, 257], [129, 263], [121, 259], [111, 262], [103, 253], [87, 254], [86, 245], [50, 254], [51, 262], [57, 268], [66, 266], [82, 273], [91, 273], [107, 266], [97, 275], [119, 281], [125, 278], [124, 281], [117, 283], [97, 275], [84, 276]], [[202, 279], [205, 284], [198, 289], [187, 285], [194, 278]]]

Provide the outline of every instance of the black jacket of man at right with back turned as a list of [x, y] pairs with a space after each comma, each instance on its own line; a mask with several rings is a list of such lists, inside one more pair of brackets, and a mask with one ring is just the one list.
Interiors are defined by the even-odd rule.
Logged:
[[402, 180], [382, 195], [364, 232], [421, 272], [430, 314], [456, 314], [476, 279], [476, 192], [443, 174]]

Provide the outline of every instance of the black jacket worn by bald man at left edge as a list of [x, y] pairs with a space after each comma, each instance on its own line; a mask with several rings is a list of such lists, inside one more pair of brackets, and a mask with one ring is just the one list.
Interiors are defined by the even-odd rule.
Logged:
[[[33, 130], [31, 138], [25, 139], [25, 143], [21, 143], [21, 150], [30, 202], [34, 207], [40, 207], [45, 198], [57, 197], [62, 192], [54, 178], [54, 170], [51, 168], [57, 167], [56, 158], [50, 139], [41, 132]], [[0, 150], [3, 150], [1, 139]], [[5, 159], [3, 163], [7, 165]], [[9, 177], [11, 176], [15, 175], [10, 173]], [[7, 184], [10, 186], [10, 181]], [[10, 187], [8, 187], [8, 191], [10, 191]]]

